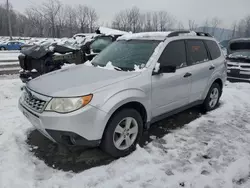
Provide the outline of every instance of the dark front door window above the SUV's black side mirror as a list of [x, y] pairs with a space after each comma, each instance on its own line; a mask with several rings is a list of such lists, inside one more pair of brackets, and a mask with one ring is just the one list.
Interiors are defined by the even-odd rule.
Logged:
[[164, 49], [158, 62], [163, 65], [173, 65], [177, 68], [186, 66], [186, 49], [184, 40], [170, 42]]

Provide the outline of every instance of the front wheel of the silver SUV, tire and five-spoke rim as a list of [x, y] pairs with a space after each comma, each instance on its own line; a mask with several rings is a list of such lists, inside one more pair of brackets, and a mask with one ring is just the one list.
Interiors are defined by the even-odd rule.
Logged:
[[[130, 124], [127, 128], [125, 128], [126, 122]], [[128, 131], [128, 127], [130, 127], [130, 131]], [[142, 132], [143, 121], [139, 112], [134, 109], [123, 109], [118, 111], [112, 116], [107, 124], [100, 145], [101, 149], [115, 158], [129, 155], [136, 149]]]

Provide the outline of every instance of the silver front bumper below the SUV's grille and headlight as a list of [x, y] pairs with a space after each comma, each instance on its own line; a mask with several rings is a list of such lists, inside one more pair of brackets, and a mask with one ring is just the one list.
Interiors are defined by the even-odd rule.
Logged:
[[37, 113], [19, 101], [19, 109], [45, 137], [69, 146], [98, 146], [106, 125], [106, 113], [90, 105], [68, 114]]

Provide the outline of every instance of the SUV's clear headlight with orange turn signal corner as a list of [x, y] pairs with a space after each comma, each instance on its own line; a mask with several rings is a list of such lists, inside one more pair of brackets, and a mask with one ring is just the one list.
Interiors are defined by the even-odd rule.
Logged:
[[54, 111], [58, 113], [69, 113], [78, 110], [92, 100], [93, 95], [74, 98], [53, 98], [46, 107], [46, 111]]

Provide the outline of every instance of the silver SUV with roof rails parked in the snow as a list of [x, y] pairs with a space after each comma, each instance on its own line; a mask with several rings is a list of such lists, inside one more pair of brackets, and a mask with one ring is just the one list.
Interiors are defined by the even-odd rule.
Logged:
[[195, 105], [216, 108], [226, 81], [216, 40], [189, 31], [129, 34], [92, 62], [27, 83], [19, 108], [50, 140], [129, 154], [150, 124]]

